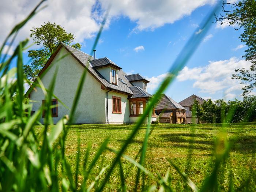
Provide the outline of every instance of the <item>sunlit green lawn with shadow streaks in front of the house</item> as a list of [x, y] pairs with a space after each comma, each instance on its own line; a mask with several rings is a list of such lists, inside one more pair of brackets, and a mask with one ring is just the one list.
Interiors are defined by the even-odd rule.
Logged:
[[[100, 144], [105, 138], [110, 138], [108, 147], [118, 150], [121, 144], [127, 139], [134, 125], [73, 125], [69, 129], [66, 141], [66, 156], [71, 163], [72, 169], [75, 170], [76, 155], [77, 155], [77, 140], [80, 137], [82, 157], [80, 164], [83, 164], [83, 156], [86, 153], [86, 148], [89, 143], [92, 145], [90, 151], [90, 160], [95, 155]], [[222, 191], [227, 191], [230, 177], [233, 179], [234, 188], [236, 191], [256, 190], [256, 124], [226, 124], [226, 136], [234, 142], [234, 146], [230, 152], [230, 158], [227, 159], [225, 165], [219, 170], [219, 185]], [[192, 128], [195, 128], [194, 134], [191, 133]], [[146, 154], [146, 169], [157, 177], [158, 174], [164, 176], [170, 169], [169, 180], [172, 187], [176, 191], [183, 191], [186, 187], [181, 179], [181, 176], [170, 164], [169, 160], [174, 162], [182, 172], [186, 172], [191, 180], [201, 187], [203, 180], [210, 174], [214, 165], [214, 139], [217, 138], [221, 124], [199, 124], [195, 125], [176, 125], [176, 124], [157, 124], [153, 127], [153, 131], [148, 141]], [[40, 128], [37, 131], [40, 132]], [[138, 132], [132, 144], [129, 145], [126, 155], [136, 159], [146, 126], [142, 127]], [[192, 144], [191, 144], [192, 141]], [[189, 150], [192, 156], [188, 157]], [[113, 160], [114, 153], [106, 151], [101, 159], [97, 162], [97, 169], [93, 170], [93, 175], [96, 176], [102, 167], [110, 165]], [[125, 181], [127, 190], [133, 191], [135, 185], [135, 176], [137, 168], [122, 159]], [[189, 165], [189, 166], [188, 166]], [[106, 191], [120, 191], [119, 170], [114, 170]], [[80, 173], [82, 175], [82, 173]], [[101, 177], [104, 177], [102, 175]], [[94, 178], [93, 176], [91, 179]], [[82, 179], [82, 176], [79, 176]], [[92, 180], [88, 181], [88, 184]], [[155, 184], [154, 178], [146, 176], [144, 179], [146, 186]], [[140, 185], [142, 181], [140, 182]], [[96, 185], [97, 186], [97, 185]]]

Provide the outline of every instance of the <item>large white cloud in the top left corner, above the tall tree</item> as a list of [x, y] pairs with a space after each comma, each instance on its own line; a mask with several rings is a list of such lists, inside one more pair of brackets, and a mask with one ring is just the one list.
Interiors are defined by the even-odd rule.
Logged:
[[[4, 38], [10, 33], [15, 24], [26, 18], [31, 10], [37, 5], [38, 1], [19, 0], [19, 1], [3, 1], [0, 7], [0, 44]], [[73, 33], [76, 41], [83, 42], [84, 38], [94, 37], [98, 31], [101, 14], [95, 11], [91, 14], [91, 10], [95, 4], [94, 0], [69, 1], [69, 0], [49, 0], [43, 5], [48, 5], [39, 11], [20, 31], [17, 41], [29, 37], [32, 27], [40, 27], [44, 22], [55, 22], [64, 27], [68, 33]], [[42, 6], [43, 6], [42, 5]], [[98, 15], [98, 17], [97, 17]]]

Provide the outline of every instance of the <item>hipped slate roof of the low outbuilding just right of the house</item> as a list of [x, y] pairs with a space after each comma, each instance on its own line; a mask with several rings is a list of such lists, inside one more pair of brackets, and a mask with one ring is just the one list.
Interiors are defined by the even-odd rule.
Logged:
[[186, 110], [184, 107], [182, 107], [179, 103], [174, 101], [172, 98], [168, 97], [166, 94], [162, 94], [159, 98], [158, 103], [155, 106], [155, 110], [163, 110], [163, 109], [183, 109]]

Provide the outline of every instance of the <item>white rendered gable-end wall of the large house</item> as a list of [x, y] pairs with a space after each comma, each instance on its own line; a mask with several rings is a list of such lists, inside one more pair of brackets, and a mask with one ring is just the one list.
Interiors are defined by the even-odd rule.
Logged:
[[[64, 48], [61, 48], [54, 60], [57, 60], [63, 54], [69, 53]], [[54, 61], [53, 60], [53, 61]], [[76, 89], [80, 77], [85, 68], [70, 54], [53, 65], [45, 76], [41, 79], [46, 88], [49, 88], [53, 78], [56, 66], [59, 65], [59, 70], [56, 76], [54, 94], [67, 105], [72, 107]], [[49, 66], [49, 67], [50, 67]], [[74, 123], [106, 123], [105, 103], [106, 90], [101, 89], [101, 84], [89, 73], [86, 73], [83, 90], [79, 99], [78, 106], [74, 117]], [[33, 110], [39, 109], [42, 105], [42, 100], [45, 99], [42, 90], [37, 87], [37, 91], [31, 92], [31, 100], [33, 102]], [[58, 117], [53, 117], [53, 123], [57, 123], [65, 114], [69, 114], [69, 109], [66, 109], [58, 101]], [[43, 118], [40, 119], [43, 123]]]

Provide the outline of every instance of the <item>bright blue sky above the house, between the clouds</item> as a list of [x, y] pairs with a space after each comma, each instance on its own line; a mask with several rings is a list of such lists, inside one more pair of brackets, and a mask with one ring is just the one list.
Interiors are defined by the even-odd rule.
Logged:
[[[101, 5], [97, 2], [96, 5], [103, 7], [103, 3]], [[190, 10], [191, 13], [181, 14], [179, 18], [174, 19], [170, 17], [166, 21], [163, 21], [166, 15], [161, 18], [157, 13], [154, 23], [150, 23], [144, 17], [136, 18], [133, 16], [134, 13], [110, 11], [111, 16], [97, 45], [96, 56], [97, 58], [109, 57], [129, 74], [139, 73], [147, 77], [151, 81], [148, 91], [154, 93], [178, 53], [189, 37], [198, 30], [197, 26], [213, 6], [214, 3], [205, 3]], [[99, 10], [101, 9], [95, 8], [95, 4], [92, 3], [90, 19], [100, 21], [103, 14], [99, 14]], [[151, 20], [154, 19], [153, 15]], [[39, 20], [40, 22], [48, 21], [43, 18]], [[53, 18], [49, 20], [54, 21]], [[67, 32], [72, 32], [78, 37], [76, 40], [82, 44], [83, 52], [90, 53], [98, 29], [94, 24], [80, 26], [86, 28], [87, 32], [84, 33], [87, 35], [81, 35], [79, 30], [72, 31], [75, 24], [72, 24], [73, 28], [69, 26], [70, 23], [66, 27], [63, 20], [60, 24]], [[242, 58], [246, 47], [238, 39], [242, 29], [236, 31], [231, 26], [218, 26], [217, 23], [212, 23], [206, 38], [188, 61], [187, 67], [165, 91], [175, 101], [179, 102], [192, 94], [212, 99], [241, 99], [242, 86], [240, 82], [231, 80], [230, 77], [235, 68], [249, 67], [249, 63]], [[79, 25], [76, 27], [79, 29]], [[90, 27], [97, 29], [93, 31]], [[24, 57], [28, 61], [26, 52]]]

